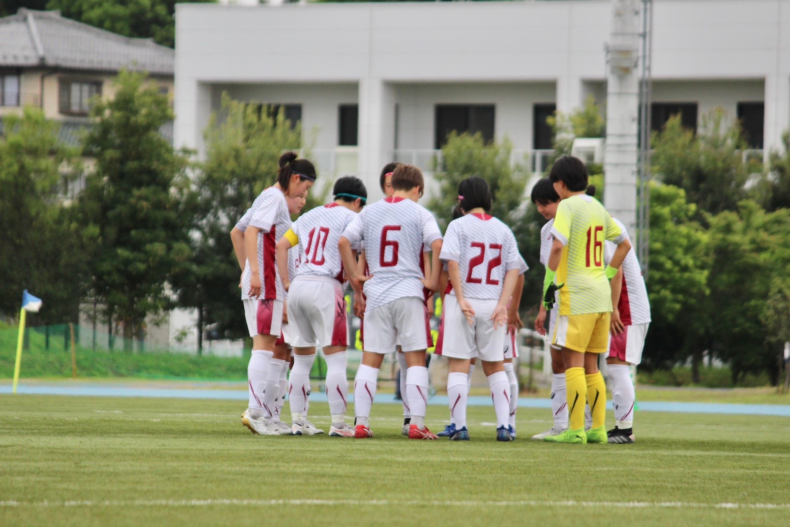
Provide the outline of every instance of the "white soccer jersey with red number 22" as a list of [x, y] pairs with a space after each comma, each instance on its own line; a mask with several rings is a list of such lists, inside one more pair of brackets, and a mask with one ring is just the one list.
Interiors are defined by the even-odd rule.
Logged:
[[[494, 299], [502, 296], [505, 273], [521, 268], [516, 239], [510, 228], [494, 216], [467, 214], [447, 226], [444, 261], [458, 262], [461, 289], [466, 298]], [[453, 293], [457, 284], [453, 284]]]

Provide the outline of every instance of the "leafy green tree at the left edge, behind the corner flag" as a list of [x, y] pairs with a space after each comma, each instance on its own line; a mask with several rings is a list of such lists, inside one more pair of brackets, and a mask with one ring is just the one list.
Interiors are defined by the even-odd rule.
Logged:
[[72, 211], [59, 193], [79, 170], [76, 152], [58, 144], [58, 123], [39, 108], [7, 115], [2, 125], [0, 313], [16, 316], [27, 288], [46, 306], [36, 322], [76, 322], [85, 259]]

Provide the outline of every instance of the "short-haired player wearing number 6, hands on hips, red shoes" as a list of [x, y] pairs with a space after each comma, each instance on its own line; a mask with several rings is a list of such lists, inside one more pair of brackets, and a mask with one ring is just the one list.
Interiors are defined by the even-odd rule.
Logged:
[[[412, 165], [398, 166], [392, 175], [394, 194], [369, 205], [340, 236], [340, 255], [355, 295], [364, 289], [367, 299], [362, 363], [354, 382], [356, 438], [373, 437], [369, 418], [384, 354], [400, 341], [407, 363], [404, 399], [411, 409], [410, 439], [435, 439], [425, 427], [428, 370], [425, 367], [427, 335], [423, 288], [435, 291], [442, 234], [434, 216], [417, 200], [425, 186], [423, 173]], [[370, 276], [357, 270], [352, 247], [364, 244]], [[431, 280], [420, 262], [423, 247], [431, 247]]]

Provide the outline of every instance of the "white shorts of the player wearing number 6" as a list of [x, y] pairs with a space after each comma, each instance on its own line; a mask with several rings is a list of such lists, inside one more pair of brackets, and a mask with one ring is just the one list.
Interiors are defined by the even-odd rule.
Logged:
[[431, 325], [426, 310], [422, 298], [406, 296], [365, 311], [365, 351], [392, 353], [396, 342], [404, 352], [427, 349]]

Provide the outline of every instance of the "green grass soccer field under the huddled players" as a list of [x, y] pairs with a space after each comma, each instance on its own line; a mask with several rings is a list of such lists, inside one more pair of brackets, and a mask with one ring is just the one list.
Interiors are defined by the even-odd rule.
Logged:
[[[261, 437], [237, 401], [0, 396], [0, 525], [784, 525], [790, 419], [641, 412], [634, 445]], [[328, 428], [327, 406], [310, 408]], [[446, 408], [431, 406], [439, 428]], [[610, 416], [611, 417], [611, 416]]]

